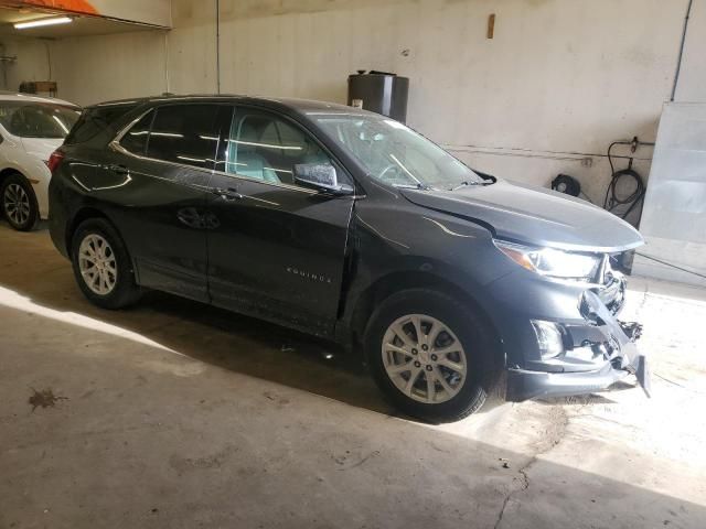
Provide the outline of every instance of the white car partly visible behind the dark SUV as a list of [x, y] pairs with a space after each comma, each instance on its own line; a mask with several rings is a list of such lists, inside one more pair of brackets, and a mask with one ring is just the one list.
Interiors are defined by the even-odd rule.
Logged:
[[46, 163], [79, 116], [61, 99], [0, 93], [0, 207], [14, 229], [49, 217]]

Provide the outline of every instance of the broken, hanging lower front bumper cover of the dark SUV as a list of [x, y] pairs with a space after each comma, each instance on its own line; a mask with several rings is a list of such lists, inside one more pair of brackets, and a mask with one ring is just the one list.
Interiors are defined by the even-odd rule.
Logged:
[[[593, 343], [605, 352], [596, 358], [595, 368], [580, 370], [507, 370], [506, 400], [521, 402], [542, 397], [568, 397], [602, 391], [623, 378], [634, 375], [650, 396], [650, 373], [646, 358], [640, 354], [635, 339], [640, 337], [639, 324], [618, 322], [601, 300], [592, 292], [586, 293], [586, 302], [599, 324], [605, 343]], [[567, 366], [570, 366], [567, 364]], [[555, 366], [556, 367], [556, 366]]]

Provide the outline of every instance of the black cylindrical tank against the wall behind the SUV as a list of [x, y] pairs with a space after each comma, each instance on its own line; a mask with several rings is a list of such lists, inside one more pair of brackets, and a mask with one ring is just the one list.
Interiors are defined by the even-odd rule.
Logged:
[[409, 79], [385, 72], [349, 75], [349, 106], [389, 116], [403, 123], [407, 120]]

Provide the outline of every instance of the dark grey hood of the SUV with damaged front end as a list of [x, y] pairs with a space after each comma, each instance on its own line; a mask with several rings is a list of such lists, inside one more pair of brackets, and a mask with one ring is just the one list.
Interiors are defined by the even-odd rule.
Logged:
[[488, 227], [500, 239], [565, 250], [618, 252], [644, 241], [631, 225], [592, 204], [499, 180], [457, 191], [399, 190], [418, 206]]

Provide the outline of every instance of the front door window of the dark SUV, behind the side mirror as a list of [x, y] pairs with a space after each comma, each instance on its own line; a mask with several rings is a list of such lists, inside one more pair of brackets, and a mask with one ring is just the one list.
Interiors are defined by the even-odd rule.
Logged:
[[304, 131], [269, 112], [238, 108], [231, 125], [225, 172], [268, 183], [295, 184], [295, 165], [328, 164], [329, 156]]

